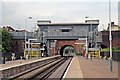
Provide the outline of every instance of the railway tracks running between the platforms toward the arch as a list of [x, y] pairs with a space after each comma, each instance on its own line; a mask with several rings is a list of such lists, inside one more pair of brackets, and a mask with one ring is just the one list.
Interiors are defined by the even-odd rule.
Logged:
[[[11, 76], [10, 79], [11, 80], [33, 80], [33, 79], [37, 79], [37, 80], [46, 80], [48, 78], [50, 78], [50, 76], [57, 71], [57, 69], [63, 65], [66, 61], [67, 66], [70, 63], [72, 57], [61, 57], [59, 59], [56, 60], [51, 60], [48, 61], [46, 63], [43, 63], [42, 65], [33, 68], [31, 70], [25, 71], [23, 73], [20, 73], [18, 75], [15, 76]], [[69, 60], [69, 61], [68, 61]], [[58, 77], [59, 79], [62, 78], [67, 66], [65, 67], [64, 71], [62, 71], [62, 73], [58, 73], [60, 76]]]

